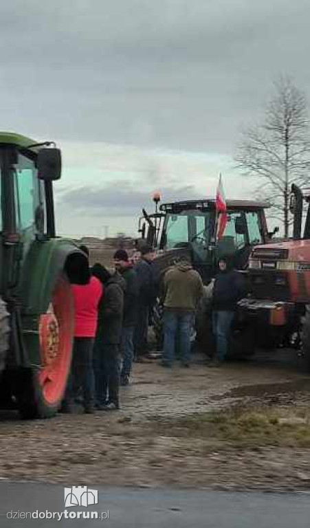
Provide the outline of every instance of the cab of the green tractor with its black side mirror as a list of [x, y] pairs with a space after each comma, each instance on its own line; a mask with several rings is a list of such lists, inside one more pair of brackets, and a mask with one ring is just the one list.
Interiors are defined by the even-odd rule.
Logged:
[[1, 294], [19, 283], [21, 263], [32, 241], [55, 236], [52, 181], [60, 178], [61, 157], [51, 143], [34, 143], [0, 133]]

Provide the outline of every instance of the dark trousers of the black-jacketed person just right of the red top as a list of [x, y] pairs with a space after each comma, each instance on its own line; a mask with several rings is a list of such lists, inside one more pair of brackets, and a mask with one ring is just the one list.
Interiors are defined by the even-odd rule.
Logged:
[[96, 403], [119, 405], [120, 355], [118, 344], [96, 342], [93, 356]]

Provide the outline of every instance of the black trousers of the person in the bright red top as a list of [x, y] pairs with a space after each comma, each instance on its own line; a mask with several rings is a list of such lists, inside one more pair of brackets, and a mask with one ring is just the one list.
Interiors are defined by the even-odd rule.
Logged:
[[85, 407], [93, 406], [93, 338], [74, 338], [71, 373], [65, 393], [65, 404], [71, 404], [82, 391]]

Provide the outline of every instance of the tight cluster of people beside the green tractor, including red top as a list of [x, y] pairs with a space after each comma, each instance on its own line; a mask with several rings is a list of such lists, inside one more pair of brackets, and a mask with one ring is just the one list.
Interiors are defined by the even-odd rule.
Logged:
[[[80, 250], [89, 256], [86, 246]], [[118, 250], [113, 273], [96, 263], [89, 283], [73, 285], [74, 349], [63, 412], [72, 412], [76, 400], [86, 413], [120, 408], [119, 386], [129, 384], [133, 360], [141, 361], [146, 353], [156, 298], [154, 256], [147, 244], [140, 248], [139, 259]]]

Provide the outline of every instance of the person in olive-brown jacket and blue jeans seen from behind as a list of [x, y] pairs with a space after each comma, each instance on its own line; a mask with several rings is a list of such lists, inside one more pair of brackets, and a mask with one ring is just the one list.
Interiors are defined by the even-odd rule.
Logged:
[[203, 283], [190, 262], [183, 258], [164, 276], [164, 358], [162, 366], [172, 366], [179, 336], [181, 364], [190, 366], [190, 332], [195, 310], [203, 294]]

